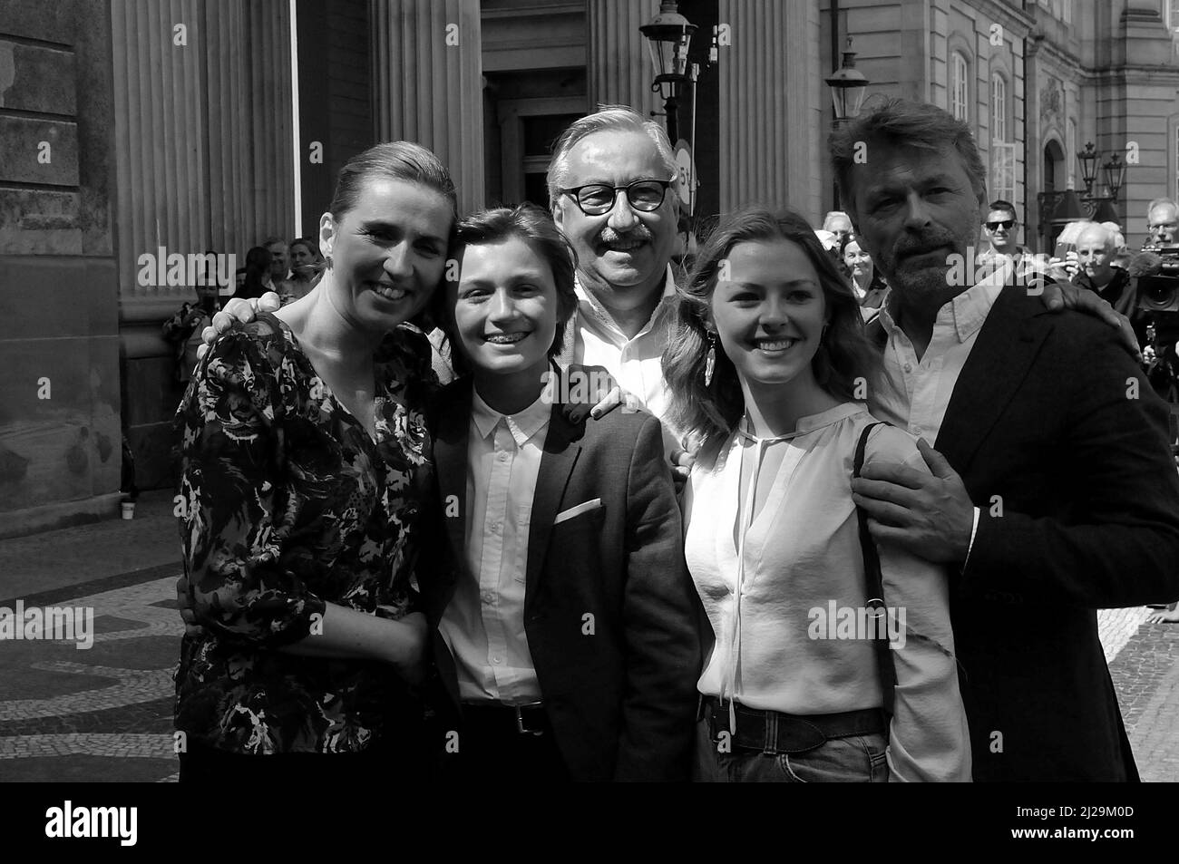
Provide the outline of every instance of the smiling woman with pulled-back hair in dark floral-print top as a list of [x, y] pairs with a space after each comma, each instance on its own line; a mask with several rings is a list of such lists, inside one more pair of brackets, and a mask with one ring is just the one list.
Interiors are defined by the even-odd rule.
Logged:
[[[361, 153], [320, 222], [323, 278], [222, 337], [185, 394], [180, 527], [203, 632], [176, 679], [182, 780], [384, 778], [373, 754], [423, 734], [411, 576], [434, 376], [404, 325], [441, 279], [455, 207], [428, 150]], [[324, 756], [290, 760], [304, 753]], [[414, 774], [422, 756], [397, 764]]]

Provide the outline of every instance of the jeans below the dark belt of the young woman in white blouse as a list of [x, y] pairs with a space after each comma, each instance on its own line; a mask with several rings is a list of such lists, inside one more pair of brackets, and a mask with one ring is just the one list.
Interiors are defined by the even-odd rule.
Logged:
[[732, 747], [720, 753], [709, 720], [696, 724], [696, 783], [888, 783], [883, 733], [832, 738], [805, 753]]

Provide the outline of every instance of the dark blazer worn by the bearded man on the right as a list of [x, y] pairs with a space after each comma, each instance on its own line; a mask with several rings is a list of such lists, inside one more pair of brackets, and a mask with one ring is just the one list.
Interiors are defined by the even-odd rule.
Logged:
[[1166, 430], [1112, 328], [1003, 289], [935, 444], [982, 512], [950, 599], [975, 780], [1138, 779], [1096, 609], [1179, 596]]

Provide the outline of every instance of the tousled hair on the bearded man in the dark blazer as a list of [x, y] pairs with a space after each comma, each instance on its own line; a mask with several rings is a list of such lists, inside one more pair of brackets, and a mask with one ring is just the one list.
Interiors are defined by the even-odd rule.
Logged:
[[856, 190], [851, 185], [851, 167], [857, 150], [861, 150], [857, 145], [868, 141], [917, 150], [953, 146], [962, 159], [962, 167], [970, 178], [975, 194], [981, 196], [987, 191], [987, 169], [983, 167], [979, 146], [967, 124], [954, 119], [953, 114], [936, 105], [889, 98], [851, 123], [839, 126], [828, 137], [839, 193], [845, 202], [851, 202], [852, 210], [857, 205]]

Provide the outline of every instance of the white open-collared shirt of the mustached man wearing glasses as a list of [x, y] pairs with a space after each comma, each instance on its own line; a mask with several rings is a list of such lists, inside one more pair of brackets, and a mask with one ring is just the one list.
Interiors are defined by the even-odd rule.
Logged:
[[575, 281], [574, 286], [578, 309], [571, 323], [575, 334], [573, 362], [604, 367], [643, 408], [663, 421], [664, 437], [667, 438], [671, 391], [663, 375], [663, 351], [671, 336], [671, 301], [676, 297], [671, 264], [667, 265], [659, 304], [633, 338], [627, 338], [580, 281]]

